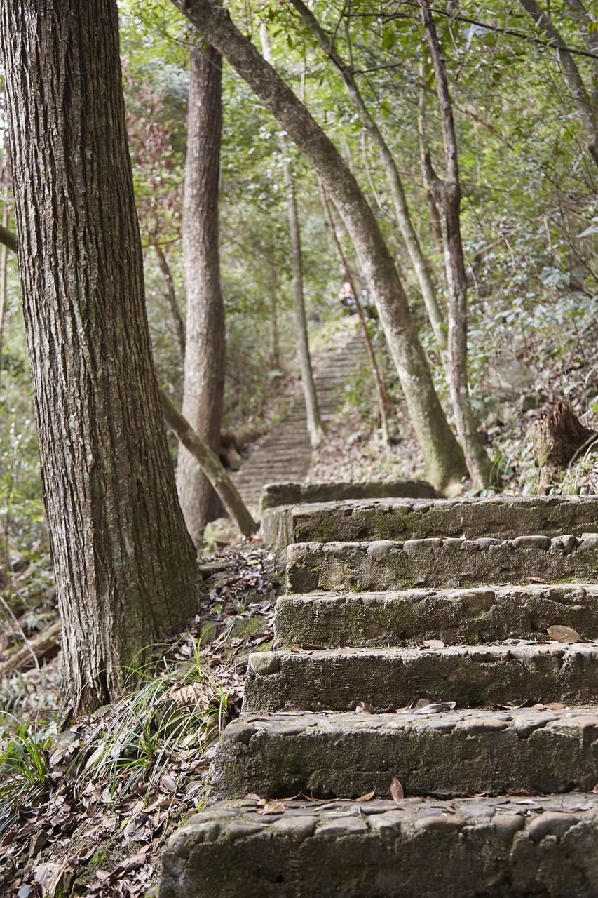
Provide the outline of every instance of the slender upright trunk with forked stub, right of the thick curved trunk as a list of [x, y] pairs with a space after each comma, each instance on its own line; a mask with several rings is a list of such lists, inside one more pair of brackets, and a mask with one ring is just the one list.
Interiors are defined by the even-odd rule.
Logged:
[[449, 386], [453, 401], [457, 433], [465, 461], [476, 489], [488, 486], [491, 464], [478, 433], [478, 421], [471, 409], [467, 373], [467, 277], [461, 240], [461, 181], [459, 154], [454, 130], [453, 108], [448, 89], [446, 68], [438, 42], [432, 13], [420, 0], [422, 19], [436, 75], [436, 88], [443, 122], [446, 179], [441, 184], [427, 156], [428, 179], [435, 190], [435, 200], [442, 212], [444, 267], [449, 293]]

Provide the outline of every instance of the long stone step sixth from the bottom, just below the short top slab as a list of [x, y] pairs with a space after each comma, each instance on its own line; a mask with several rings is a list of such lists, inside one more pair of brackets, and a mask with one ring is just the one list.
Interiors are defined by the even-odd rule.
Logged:
[[[390, 484], [389, 484], [390, 486]], [[392, 501], [391, 497], [414, 496]], [[434, 497], [432, 491], [431, 497]], [[365, 496], [326, 494], [321, 497], [290, 498], [297, 502], [337, 505], [303, 505], [279, 509], [290, 542], [354, 542], [421, 539], [423, 537], [479, 536], [513, 539], [525, 533], [598, 532], [598, 497], [542, 496], [491, 497], [485, 499], [435, 499], [422, 501], [422, 493], [388, 492]], [[359, 501], [349, 501], [357, 499]], [[277, 505], [283, 503], [277, 502]]]

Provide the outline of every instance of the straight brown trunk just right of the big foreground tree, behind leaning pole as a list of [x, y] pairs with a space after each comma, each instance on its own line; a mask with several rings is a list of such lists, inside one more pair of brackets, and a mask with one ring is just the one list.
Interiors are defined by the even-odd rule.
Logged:
[[[220, 444], [224, 367], [224, 303], [218, 255], [218, 178], [222, 132], [222, 57], [212, 47], [191, 48], [183, 252], [187, 286], [187, 341], [182, 413], [216, 454]], [[217, 497], [193, 455], [180, 447], [177, 486], [185, 523], [201, 550]]]

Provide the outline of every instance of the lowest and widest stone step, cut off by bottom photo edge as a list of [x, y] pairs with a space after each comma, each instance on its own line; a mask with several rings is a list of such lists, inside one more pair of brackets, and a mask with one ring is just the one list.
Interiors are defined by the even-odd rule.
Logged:
[[160, 898], [598, 895], [598, 795], [284, 808], [246, 798], [191, 817], [163, 853]]

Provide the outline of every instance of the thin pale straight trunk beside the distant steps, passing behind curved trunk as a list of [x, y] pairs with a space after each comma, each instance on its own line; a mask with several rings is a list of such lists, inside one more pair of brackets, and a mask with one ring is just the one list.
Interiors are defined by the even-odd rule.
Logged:
[[[268, 38], [268, 30], [265, 24], [259, 28], [262, 53], [266, 61], [271, 65], [272, 51]], [[299, 216], [297, 215], [297, 200], [295, 198], [295, 185], [293, 172], [288, 158], [288, 147], [285, 137], [278, 136], [280, 151], [282, 154], [283, 172], [286, 183], [286, 207], [288, 210], [288, 229], [291, 235], [291, 248], [293, 254], [293, 299], [295, 300], [295, 321], [297, 323], [297, 347], [299, 349], [299, 364], [301, 365], [301, 382], [303, 384], [303, 397], [305, 400], [305, 415], [307, 418], [307, 431], [310, 435], [312, 449], [316, 449], [324, 436], [321, 426], [320, 409], [318, 408], [318, 395], [313, 383], [312, 357], [307, 336], [307, 320], [305, 318], [305, 299], [303, 296], [303, 258], [301, 251], [301, 229]]]

